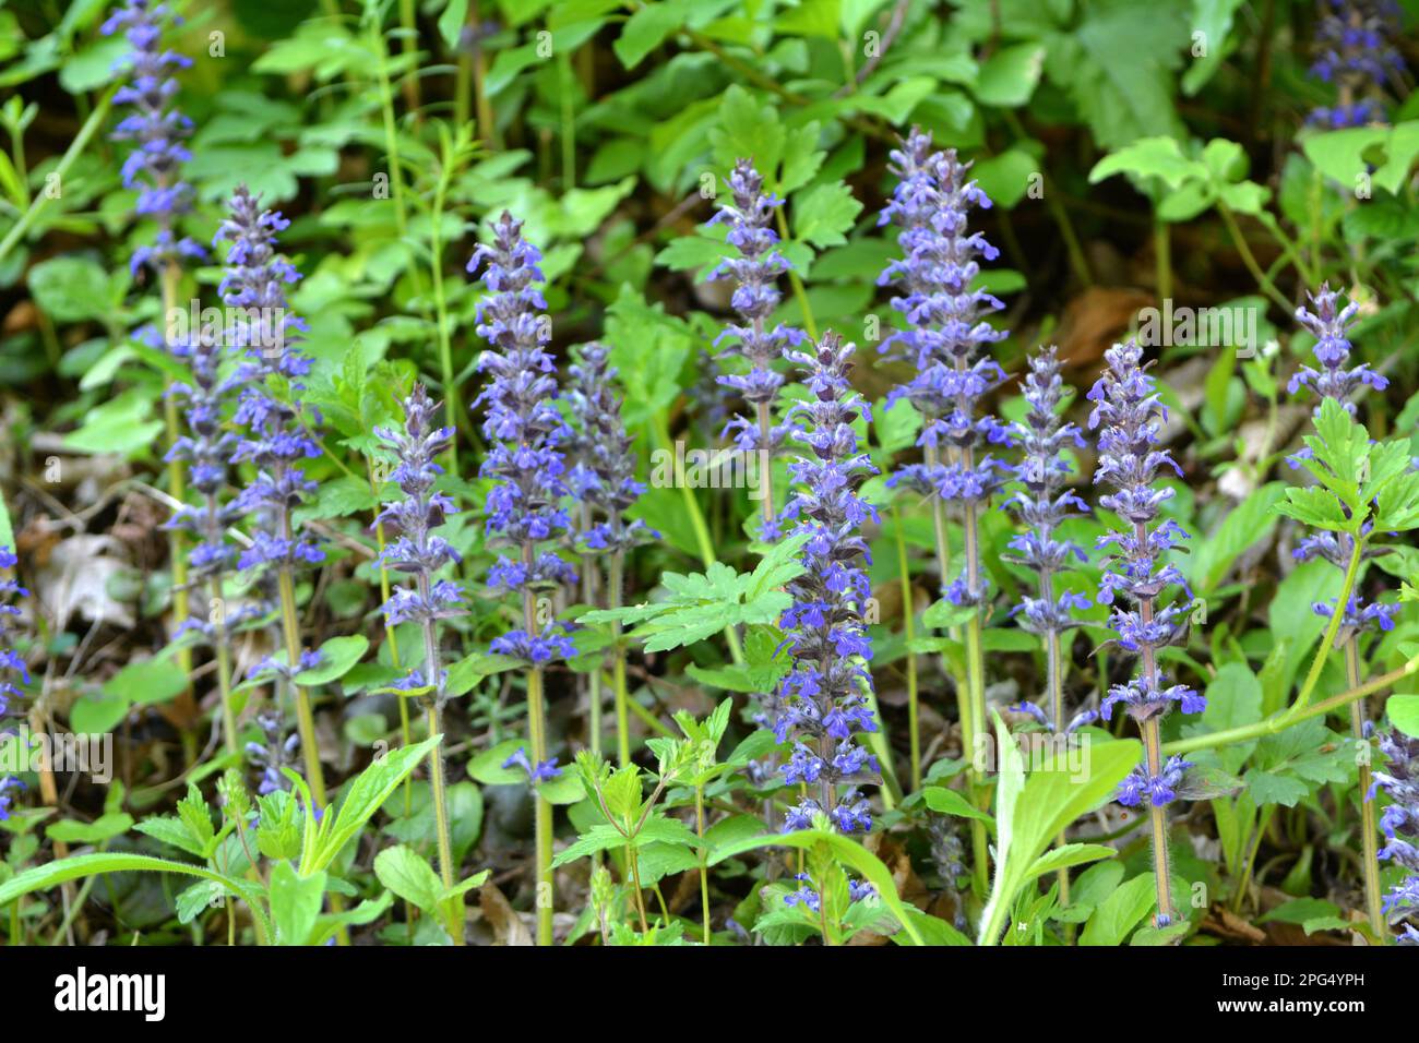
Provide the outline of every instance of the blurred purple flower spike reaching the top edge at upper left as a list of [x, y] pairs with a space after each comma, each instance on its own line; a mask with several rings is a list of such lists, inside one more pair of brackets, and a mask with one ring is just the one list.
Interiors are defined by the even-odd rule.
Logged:
[[[123, 187], [139, 186], [136, 213], [158, 223], [150, 245], [139, 247], [129, 260], [136, 275], [145, 265], [160, 271], [180, 258], [201, 260], [206, 254], [190, 238], [179, 237], [177, 219], [192, 209], [192, 186], [182, 180], [182, 165], [192, 159], [183, 140], [192, 121], [173, 106], [177, 81], [170, 70], [192, 65], [192, 58], [163, 50], [167, 4], [128, 0], [102, 26], [104, 35], [123, 30], [132, 51], [126, 57], [128, 82], [114, 95], [116, 105], [131, 105], [132, 114], [114, 129], [114, 139], [132, 142], [123, 160]], [[180, 18], [172, 18], [180, 24]]]

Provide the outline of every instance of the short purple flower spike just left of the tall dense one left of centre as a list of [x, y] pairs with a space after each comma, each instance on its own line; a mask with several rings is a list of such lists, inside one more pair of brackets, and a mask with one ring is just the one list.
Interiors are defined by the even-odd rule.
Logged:
[[410, 586], [394, 587], [383, 612], [390, 626], [417, 623], [424, 636], [423, 668], [413, 668], [394, 687], [431, 688], [431, 698], [441, 702], [447, 671], [440, 666], [436, 623], [465, 613], [458, 585], [450, 579], [434, 579], [434, 573], [446, 565], [463, 561], [447, 539], [433, 534], [458, 511], [447, 494], [434, 491], [434, 482], [444, 473], [434, 461], [448, 448], [454, 434], [453, 427], [433, 423], [436, 409], [427, 389], [414, 385], [404, 400], [404, 429], [375, 429], [375, 437], [399, 460], [390, 480], [404, 494], [386, 504], [376, 522], [394, 535], [380, 555], [380, 563], [413, 579]]

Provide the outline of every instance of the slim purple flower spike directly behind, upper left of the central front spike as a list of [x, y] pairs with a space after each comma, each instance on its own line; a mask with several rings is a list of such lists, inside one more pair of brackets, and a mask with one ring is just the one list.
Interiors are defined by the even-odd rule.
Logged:
[[721, 204], [710, 224], [729, 226], [728, 243], [739, 255], [721, 261], [708, 278], [735, 281], [731, 304], [741, 321], [727, 326], [715, 343], [732, 338], [735, 343], [725, 353], [744, 356], [749, 372], [719, 376], [718, 382], [739, 392], [753, 406], [753, 416], [732, 417], [725, 424], [724, 434], [729, 436], [732, 431], [734, 443], [745, 451], [765, 450], [769, 456], [776, 456], [789, 437], [790, 427], [788, 423], [775, 424], [769, 419], [783, 386], [783, 375], [773, 369], [773, 363], [789, 348], [797, 348], [805, 341], [803, 331], [782, 322], [768, 328], [768, 318], [780, 299], [778, 278], [792, 267], [779, 253], [779, 237], [772, 227], [773, 211], [783, 206], [783, 200], [763, 190], [763, 176], [748, 159], [734, 165], [727, 184], [729, 202]]

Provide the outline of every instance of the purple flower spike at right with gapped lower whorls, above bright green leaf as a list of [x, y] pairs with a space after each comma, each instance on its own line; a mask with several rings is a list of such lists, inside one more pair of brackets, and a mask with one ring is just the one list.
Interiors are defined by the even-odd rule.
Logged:
[[[1104, 359], [1108, 369], [1088, 392], [1094, 403], [1088, 426], [1100, 429], [1094, 482], [1112, 485], [1114, 491], [1100, 497], [1098, 502], [1122, 518], [1127, 528], [1100, 536], [1100, 548], [1114, 549], [1104, 566], [1098, 600], [1114, 605], [1122, 596], [1124, 606], [1114, 607], [1110, 624], [1120, 647], [1137, 654], [1142, 666], [1127, 684], [1108, 690], [1100, 712], [1107, 721], [1114, 707], [1122, 704], [1139, 727], [1156, 728], [1174, 702], [1185, 714], [1206, 708], [1202, 695], [1182, 684], [1169, 685], [1158, 667], [1158, 650], [1178, 639], [1186, 626], [1191, 592], [1189, 603], [1158, 605], [1169, 586], [1186, 590], [1178, 568], [1162, 561], [1186, 534], [1174, 521], [1155, 524], [1159, 508], [1174, 495], [1171, 488], [1155, 487], [1155, 482], [1165, 467], [1179, 477], [1182, 471], [1165, 450], [1156, 447], [1166, 410], [1158, 400], [1154, 379], [1144, 372], [1142, 349], [1130, 341], [1110, 348]], [[1156, 759], [1151, 755], [1149, 763], [1139, 765], [1124, 780], [1118, 792], [1120, 803], [1131, 806], [1148, 798], [1161, 807], [1176, 796], [1188, 762], [1174, 756], [1162, 765]]]

